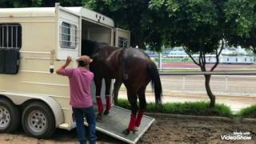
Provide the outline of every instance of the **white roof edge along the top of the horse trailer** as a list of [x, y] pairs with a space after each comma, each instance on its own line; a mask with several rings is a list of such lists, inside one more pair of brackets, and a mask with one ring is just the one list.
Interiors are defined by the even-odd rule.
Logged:
[[[81, 16], [83, 19], [104, 23], [107, 26], [114, 27], [114, 21], [106, 15], [100, 14], [85, 7], [61, 7], [61, 10], [66, 10]], [[32, 8], [0, 8], [0, 18], [18, 18], [18, 17], [51, 17], [55, 16], [55, 7], [32, 7]]]

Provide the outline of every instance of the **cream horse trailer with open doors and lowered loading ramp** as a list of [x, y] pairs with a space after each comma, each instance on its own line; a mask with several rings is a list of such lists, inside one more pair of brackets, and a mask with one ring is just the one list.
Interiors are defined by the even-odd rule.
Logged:
[[[115, 28], [111, 18], [83, 7], [57, 3], [48, 8], [0, 9], [0, 132], [12, 132], [21, 124], [26, 134], [47, 138], [55, 128], [75, 127], [68, 78], [54, 74], [54, 67], [67, 56], [78, 58], [82, 39], [130, 47], [128, 30]], [[73, 60], [70, 67], [76, 66]], [[91, 89], [95, 102], [94, 86]], [[126, 129], [125, 117], [130, 118], [129, 110], [113, 106], [97, 130], [135, 143], [154, 122], [145, 116], [141, 130], [125, 136], [118, 131]]]

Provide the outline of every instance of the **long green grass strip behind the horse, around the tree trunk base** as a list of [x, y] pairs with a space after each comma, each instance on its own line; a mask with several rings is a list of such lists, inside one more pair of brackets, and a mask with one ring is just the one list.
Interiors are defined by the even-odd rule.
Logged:
[[[130, 104], [126, 99], [118, 99], [117, 106], [130, 110]], [[185, 114], [203, 116], [222, 116], [231, 118], [232, 112], [229, 106], [216, 104], [214, 108], [209, 107], [208, 102], [167, 102], [162, 108], [157, 108], [153, 102], [147, 103], [146, 112], [164, 114]]]

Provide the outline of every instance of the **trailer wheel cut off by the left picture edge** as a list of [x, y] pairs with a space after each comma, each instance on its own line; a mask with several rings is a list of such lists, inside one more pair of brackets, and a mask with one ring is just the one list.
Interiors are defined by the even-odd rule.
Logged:
[[0, 98], [0, 132], [10, 133], [16, 130], [20, 123], [18, 107], [10, 100]]

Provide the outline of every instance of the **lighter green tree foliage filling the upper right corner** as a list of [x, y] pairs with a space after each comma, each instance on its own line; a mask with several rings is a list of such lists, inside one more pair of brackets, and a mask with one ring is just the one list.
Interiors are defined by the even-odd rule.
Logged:
[[230, 32], [226, 34], [229, 45], [242, 46], [256, 54], [256, 1], [229, 0], [225, 15], [230, 23]]

